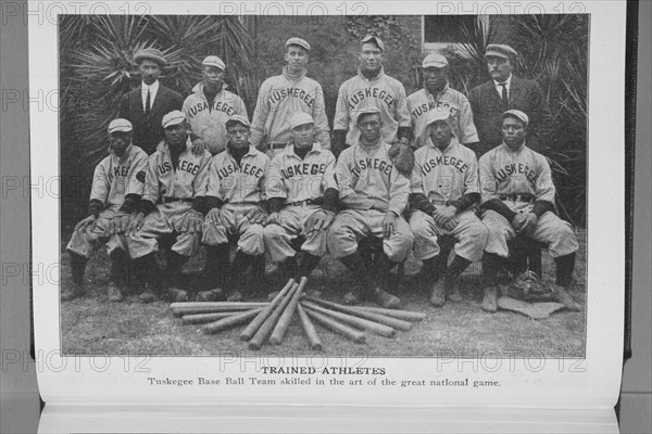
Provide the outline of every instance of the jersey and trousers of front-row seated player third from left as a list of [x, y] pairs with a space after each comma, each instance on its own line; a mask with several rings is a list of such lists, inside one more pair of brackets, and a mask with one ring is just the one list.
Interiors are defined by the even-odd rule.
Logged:
[[204, 220], [203, 243], [224, 244], [229, 234], [238, 234], [240, 251], [251, 256], [265, 253], [262, 225], [251, 225], [244, 215], [265, 202], [268, 170], [269, 157], [251, 143], [240, 164], [228, 148], [213, 157], [206, 196], [209, 202], [220, 204], [221, 221]]

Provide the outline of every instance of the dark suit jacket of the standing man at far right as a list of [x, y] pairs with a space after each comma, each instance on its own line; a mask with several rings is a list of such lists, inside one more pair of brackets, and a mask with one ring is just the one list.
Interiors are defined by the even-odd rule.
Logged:
[[[480, 138], [478, 157], [502, 143], [503, 105], [493, 80], [475, 87], [468, 94], [473, 120]], [[519, 110], [529, 117], [527, 146], [541, 152], [548, 143], [550, 111], [537, 81], [512, 76], [510, 110]]]

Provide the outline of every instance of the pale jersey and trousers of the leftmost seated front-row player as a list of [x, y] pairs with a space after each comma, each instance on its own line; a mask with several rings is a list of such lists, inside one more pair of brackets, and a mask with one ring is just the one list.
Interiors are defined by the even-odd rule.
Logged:
[[[129, 144], [122, 157], [118, 157], [110, 151], [109, 156], [98, 164], [92, 177], [92, 187], [90, 191], [90, 210], [95, 214], [97, 220], [93, 226], [89, 226], [85, 231], [74, 231], [67, 250], [88, 258], [92, 251], [106, 241], [106, 251], [109, 254], [115, 248], [127, 251], [125, 235], [113, 234], [110, 238], [105, 232], [109, 229], [109, 222], [118, 210], [131, 212], [131, 204], [135, 204], [141, 196], [148, 157], [140, 148]], [[125, 203], [125, 197], [130, 197], [130, 204]]]

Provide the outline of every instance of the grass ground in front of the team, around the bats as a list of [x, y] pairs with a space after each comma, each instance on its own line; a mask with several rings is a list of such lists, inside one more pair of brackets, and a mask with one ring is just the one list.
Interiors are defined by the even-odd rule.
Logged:
[[[215, 335], [201, 333], [201, 326], [181, 326], [168, 309], [168, 303], [143, 305], [136, 294], [122, 303], [109, 303], [106, 284], [109, 259], [102, 250], [90, 260], [86, 279], [88, 293], [61, 305], [62, 350], [65, 355], [148, 355], [148, 356], [215, 356], [275, 355], [334, 357], [584, 357], [586, 340], [586, 232], [578, 231], [580, 248], [570, 294], [582, 310], [562, 310], [549, 319], [531, 320], [523, 315], [499, 310], [487, 314], [480, 309], [480, 265], [474, 264], [462, 276], [460, 304], [447, 303], [434, 308], [428, 303], [428, 290], [415, 283], [421, 264], [410, 258], [405, 279], [397, 288], [401, 309], [426, 314], [412, 330], [386, 339], [367, 333], [365, 344], [355, 344], [317, 326], [323, 352], [310, 349], [298, 315], [279, 346], [266, 344], [259, 352], [249, 350], [238, 339], [243, 327]], [[203, 253], [203, 252], [202, 252]], [[201, 268], [203, 255], [185, 267], [188, 273]], [[62, 254], [62, 288], [71, 283], [67, 255]], [[271, 275], [274, 266], [267, 266]], [[543, 254], [546, 281], [554, 279], [554, 261]], [[353, 280], [349, 271], [326, 256], [313, 272], [309, 288], [319, 290], [325, 299], [342, 302]], [[265, 301], [264, 296], [251, 301]]]

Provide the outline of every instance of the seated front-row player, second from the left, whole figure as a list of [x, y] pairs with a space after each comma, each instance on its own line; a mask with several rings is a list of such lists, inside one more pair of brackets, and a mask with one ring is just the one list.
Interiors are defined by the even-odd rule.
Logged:
[[184, 113], [170, 112], [163, 116], [162, 126], [165, 140], [149, 158], [139, 212], [127, 231], [129, 254], [150, 277], [140, 294], [143, 303], [156, 299], [151, 277], [159, 273], [154, 253], [164, 235], [174, 237], [174, 244], [166, 251], [164, 284], [167, 295], [175, 302], [188, 298], [186, 291], [178, 288], [183, 283], [180, 269], [199, 248], [209, 183], [211, 154], [205, 150], [201, 156], [191, 152], [192, 142]]

